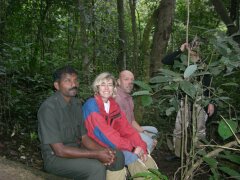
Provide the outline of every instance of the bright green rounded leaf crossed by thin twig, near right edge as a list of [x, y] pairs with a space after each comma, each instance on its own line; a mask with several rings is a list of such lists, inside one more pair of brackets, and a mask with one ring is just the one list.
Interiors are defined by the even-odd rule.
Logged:
[[[221, 120], [218, 125], [218, 133], [219, 135], [225, 140], [231, 136], [233, 136], [233, 132], [236, 133], [237, 131], [237, 122], [233, 120], [226, 120], [227, 123], [224, 120]], [[233, 130], [233, 132], [231, 131]]]

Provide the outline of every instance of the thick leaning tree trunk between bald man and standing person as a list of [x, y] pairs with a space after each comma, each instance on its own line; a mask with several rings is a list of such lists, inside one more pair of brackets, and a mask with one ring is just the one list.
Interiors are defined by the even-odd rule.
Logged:
[[162, 66], [161, 60], [166, 51], [170, 33], [172, 32], [175, 5], [175, 0], [162, 0], [160, 2], [150, 57], [150, 77], [153, 77]]

